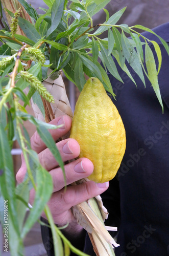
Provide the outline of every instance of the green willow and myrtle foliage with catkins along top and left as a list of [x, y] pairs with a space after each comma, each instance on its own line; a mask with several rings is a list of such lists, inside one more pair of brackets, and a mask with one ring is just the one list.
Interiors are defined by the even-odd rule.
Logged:
[[[62, 69], [65, 76], [75, 83], [80, 91], [86, 82], [85, 75], [97, 77], [115, 98], [107, 72], [123, 82], [116, 68], [118, 63], [135, 83], [134, 77], [127, 68], [126, 63], [128, 63], [140, 77], [144, 87], [146, 87], [144, 76], [149, 78], [163, 108], [158, 84], [158, 73], [162, 62], [161, 51], [155, 41], [148, 40], [137, 31], [141, 29], [155, 34], [150, 29], [140, 25], [128, 27], [126, 24], [120, 24], [120, 17], [126, 8], [111, 16], [108, 10], [104, 9], [105, 22], [93, 25], [93, 15], [102, 10], [110, 0], [43, 0], [48, 7], [46, 10], [43, 9], [43, 14], [37, 14], [25, 0], [18, 2], [30, 15], [31, 22], [18, 17], [18, 11], [13, 14], [6, 10], [11, 15], [11, 19], [13, 18], [13, 25], [9, 29], [10, 24], [6, 24], [6, 19], [3, 17], [1, 5], [3, 1], [0, 1], [1, 21], [4, 25], [0, 31], [0, 40], [3, 44], [0, 47], [0, 205], [4, 205], [4, 200], [8, 200], [11, 255], [24, 254], [23, 239], [40, 217], [42, 210], [45, 211], [52, 227], [55, 244], [59, 245], [55, 246], [55, 254], [60, 256], [65, 252], [65, 255], [69, 255], [71, 250], [77, 255], [85, 255], [74, 248], [54, 225], [51, 212], [46, 206], [52, 194], [52, 179], [32, 150], [24, 124], [29, 120], [36, 126], [39, 136], [50, 148], [64, 174], [64, 164], [48, 131], [57, 129], [57, 126], [40, 122], [29, 115], [25, 109], [26, 105], [29, 105], [32, 97], [44, 115], [41, 96], [46, 100], [53, 100], [42, 83], [49, 67], [53, 70], [51, 79], [55, 79], [58, 71]], [[17, 34], [17, 23], [26, 36]], [[107, 33], [105, 38], [102, 38], [103, 32]], [[156, 36], [169, 54], [166, 42]], [[155, 63], [149, 42], [155, 48], [158, 63]], [[145, 47], [145, 56], [143, 47]], [[32, 65], [29, 67], [30, 60]], [[23, 90], [27, 87], [29, 93], [26, 95]], [[19, 100], [22, 100], [22, 105]], [[20, 145], [28, 170], [25, 180], [17, 186], [10, 154], [15, 140]], [[31, 188], [36, 191], [35, 201], [27, 221], [23, 222]], [[0, 218], [3, 223], [2, 210], [0, 210]]]

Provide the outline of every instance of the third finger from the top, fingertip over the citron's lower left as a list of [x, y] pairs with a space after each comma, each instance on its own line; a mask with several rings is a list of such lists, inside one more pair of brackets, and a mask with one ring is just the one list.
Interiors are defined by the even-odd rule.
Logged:
[[[69, 185], [75, 181], [88, 177], [93, 172], [93, 164], [87, 158], [80, 158], [64, 166], [66, 185]], [[65, 186], [62, 169], [56, 168], [50, 172], [53, 184], [54, 192], [62, 189]]]

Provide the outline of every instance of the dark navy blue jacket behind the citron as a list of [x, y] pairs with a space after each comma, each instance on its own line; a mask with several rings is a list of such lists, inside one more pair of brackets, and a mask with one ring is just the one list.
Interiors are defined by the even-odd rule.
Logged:
[[[169, 23], [154, 31], [169, 42]], [[147, 77], [144, 88], [128, 67], [136, 88], [120, 68], [124, 84], [109, 75], [116, 94], [112, 101], [122, 117], [127, 137], [126, 153], [117, 176], [102, 195], [109, 211], [106, 225], [118, 226], [120, 246], [115, 249], [116, 256], [169, 255], [169, 56], [155, 35], [143, 34], [157, 41], [161, 48], [158, 80], [164, 113]], [[150, 47], [157, 59], [153, 45]], [[95, 255], [88, 238], [84, 251]]]

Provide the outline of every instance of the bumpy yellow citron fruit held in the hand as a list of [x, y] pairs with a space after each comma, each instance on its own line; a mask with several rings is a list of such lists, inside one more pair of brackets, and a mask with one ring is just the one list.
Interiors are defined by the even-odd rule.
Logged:
[[126, 149], [122, 118], [98, 78], [87, 80], [75, 106], [70, 138], [79, 142], [79, 157], [94, 165], [88, 177], [97, 183], [114, 178]]

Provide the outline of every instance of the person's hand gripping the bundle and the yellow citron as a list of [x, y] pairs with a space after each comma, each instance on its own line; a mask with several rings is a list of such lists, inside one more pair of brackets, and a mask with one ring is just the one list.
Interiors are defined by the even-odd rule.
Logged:
[[[65, 135], [71, 127], [71, 119], [68, 116], [58, 117], [50, 123], [55, 125], [63, 124], [60, 129], [49, 130], [55, 141]], [[65, 139], [56, 143], [56, 145], [63, 162], [75, 159], [80, 154], [80, 146], [74, 139]], [[54, 190], [48, 205], [52, 212], [54, 222], [57, 225], [65, 225], [68, 222], [72, 232], [73, 230], [81, 230], [82, 228], [77, 224], [76, 219], [71, 212], [71, 207], [84, 202], [89, 198], [102, 194], [108, 188], [109, 183], [96, 184], [93, 181], [88, 181], [80, 185], [67, 186], [65, 192], [62, 169], [58, 166], [52, 153], [46, 148], [37, 132], [35, 132], [31, 138], [31, 146], [32, 149], [38, 153], [42, 166], [50, 172], [53, 178]], [[74, 160], [64, 167], [67, 185], [86, 178], [93, 172], [93, 164], [87, 158]], [[16, 175], [18, 183], [23, 181], [26, 172], [26, 163], [22, 156], [22, 164]], [[31, 204], [33, 204], [34, 196], [35, 191], [32, 189], [30, 193]], [[42, 217], [46, 218], [44, 213], [42, 213]]]

